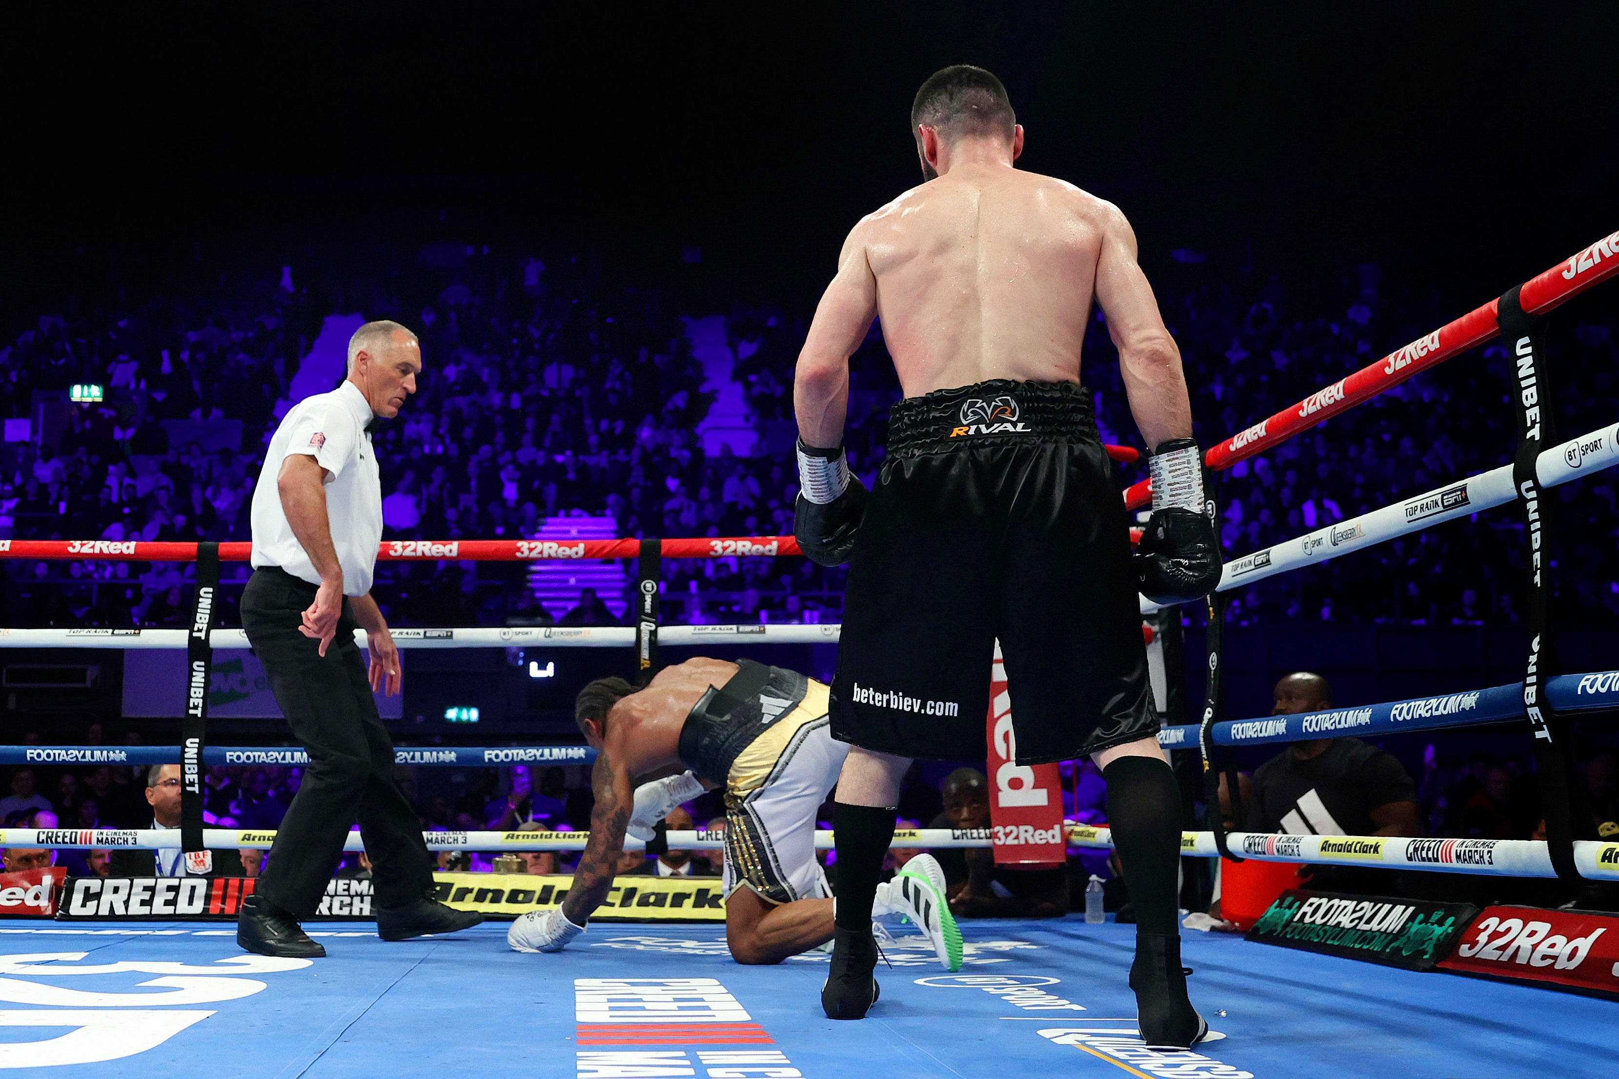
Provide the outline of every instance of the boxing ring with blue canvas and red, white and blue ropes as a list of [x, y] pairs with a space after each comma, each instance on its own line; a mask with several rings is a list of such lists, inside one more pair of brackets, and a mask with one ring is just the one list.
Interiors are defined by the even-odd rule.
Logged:
[[[1619, 464], [1619, 424], [1557, 442], [1538, 408], [1545, 385], [1533, 320], [1619, 272], [1619, 233], [1525, 281], [1501, 301], [1441, 327], [1297, 406], [1216, 445], [1206, 468], [1219, 471], [1273, 448], [1331, 416], [1381, 393], [1509, 325], [1519, 385], [1519, 455], [1512, 466], [1457, 479], [1368, 514], [1334, 523], [1269, 548], [1234, 558], [1221, 590], [1245, 587], [1303, 565], [1417, 532], [1509, 501], [1519, 503], [1538, 573], [1538, 492]], [[1517, 322], [1514, 322], [1514, 319]], [[1525, 322], [1528, 320], [1528, 322]], [[1520, 325], [1522, 345], [1517, 336]], [[1525, 359], [1527, 358], [1527, 359]], [[1527, 375], [1525, 375], [1527, 372]], [[1525, 377], [1528, 382], [1525, 382]], [[1540, 380], [1540, 382], [1536, 382]], [[1216, 487], [1217, 490], [1217, 487]], [[1125, 492], [1146, 505], [1149, 490]], [[835, 642], [837, 626], [661, 626], [662, 558], [797, 555], [790, 537], [724, 540], [474, 540], [392, 542], [392, 560], [636, 558], [633, 628], [442, 628], [398, 629], [402, 649], [630, 647], [641, 671], [657, 666], [657, 647], [698, 644]], [[0, 556], [243, 560], [246, 544], [142, 544], [105, 540], [0, 540]], [[202, 592], [199, 569], [199, 592]], [[0, 629], [0, 647], [189, 649], [244, 647], [240, 631], [214, 629], [199, 603], [193, 629]], [[1151, 611], [1143, 600], [1143, 611]], [[1196, 749], [1213, 783], [1229, 747], [1281, 744], [1336, 734], [1389, 734], [1515, 723], [1541, 751], [1538, 764], [1561, 767], [1562, 723], [1580, 712], [1619, 707], [1619, 671], [1562, 673], [1549, 654], [1530, 654], [1523, 679], [1464, 694], [1336, 709], [1294, 717], [1229, 720], [1219, 699], [1219, 603], [1209, 603], [1211, 678], [1203, 721], [1167, 726], [1169, 749]], [[1536, 642], [1551, 624], [1532, 610]], [[206, 671], [206, 666], [202, 668]], [[193, 663], [193, 673], [196, 666]], [[204, 717], [194, 717], [202, 720]], [[201, 725], [193, 730], [201, 730]], [[108, 754], [117, 754], [117, 759]], [[301, 751], [210, 746], [201, 738], [172, 747], [5, 746], [0, 764], [300, 764]], [[400, 747], [402, 764], [468, 767], [583, 764], [580, 746]], [[1557, 796], [1556, 785], [1548, 788]], [[1566, 798], [1566, 796], [1564, 796]], [[1566, 802], [1564, 802], [1566, 804]], [[1477, 857], [1434, 856], [1418, 836], [1281, 836], [1188, 830], [1193, 857], [1368, 864], [1412, 870], [1619, 880], [1619, 843], [1570, 831], [1548, 812], [1548, 841], [1467, 841]], [[578, 849], [583, 833], [427, 833], [434, 849]], [[274, 833], [6, 830], [8, 846], [162, 848], [257, 846]], [[1070, 846], [1111, 846], [1106, 828], [1070, 827]], [[669, 833], [669, 848], [712, 849], [716, 833]], [[831, 846], [831, 833], [818, 835]], [[923, 830], [899, 833], [895, 846], [989, 846], [988, 833]], [[640, 844], [628, 841], [628, 849]], [[359, 849], [358, 835], [350, 849]], [[1454, 851], [1452, 851], [1454, 853]], [[1488, 854], [1485, 857], [1483, 854]], [[92, 1061], [102, 1074], [138, 1074], [164, 1066], [243, 1076], [337, 1076], [521, 1068], [539, 1076], [827, 1076], [865, 1064], [858, 1074], [983, 1076], [1009, 1068], [1064, 1068], [1107, 1076], [1606, 1076], [1609, 1000], [1478, 979], [1400, 971], [1336, 956], [1255, 948], [1219, 935], [1183, 935], [1195, 967], [1193, 998], [1217, 1039], [1188, 1053], [1151, 1053], [1135, 1037], [1133, 996], [1125, 985], [1132, 930], [1077, 916], [1051, 922], [971, 920], [963, 925], [960, 974], [939, 971], [921, 938], [900, 937], [879, 967], [882, 1003], [863, 1022], [834, 1024], [814, 1006], [824, 979], [822, 953], [780, 967], [733, 964], [724, 933], [709, 925], [593, 924], [567, 951], [515, 954], [505, 925], [486, 924], [450, 938], [384, 943], [346, 922], [311, 924], [330, 937], [319, 964], [243, 956], [230, 927], [198, 922], [10, 920], [0, 950], [0, 1068], [62, 1074]], [[49, 940], [47, 940], [49, 938]], [[1614, 964], [1619, 987], [1619, 964]], [[491, 1014], [502, 1022], [489, 1022]], [[516, 1019], [516, 1021], [512, 1021]], [[65, 1032], [63, 1032], [65, 1030]], [[97, 1056], [97, 1053], [100, 1053]], [[152, 1055], [149, 1055], [152, 1053]], [[155, 1055], [155, 1056], [154, 1056]]]

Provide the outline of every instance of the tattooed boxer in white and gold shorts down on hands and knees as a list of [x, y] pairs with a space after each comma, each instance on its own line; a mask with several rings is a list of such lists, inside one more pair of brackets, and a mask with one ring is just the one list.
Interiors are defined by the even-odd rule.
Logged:
[[[814, 857], [814, 810], [837, 781], [848, 746], [834, 741], [827, 688], [751, 660], [693, 658], [640, 689], [601, 678], [580, 691], [575, 720], [596, 749], [591, 836], [562, 908], [512, 924], [518, 951], [557, 951], [612, 888], [625, 835], [651, 840], [657, 822], [706, 789], [725, 791], [725, 943], [737, 963], [780, 963], [832, 937], [834, 901]], [[635, 776], [664, 775], [635, 786]], [[962, 966], [962, 935], [944, 896], [944, 870], [921, 854], [877, 893], [884, 914], [923, 929], [939, 961]]]

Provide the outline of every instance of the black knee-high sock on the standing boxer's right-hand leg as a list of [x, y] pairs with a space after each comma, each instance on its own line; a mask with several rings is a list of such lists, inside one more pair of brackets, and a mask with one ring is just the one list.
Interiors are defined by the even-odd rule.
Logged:
[[1103, 768], [1103, 780], [1107, 781], [1107, 825], [1135, 908], [1135, 932], [1179, 933], [1180, 786], [1175, 773], [1164, 760], [1119, 757]]

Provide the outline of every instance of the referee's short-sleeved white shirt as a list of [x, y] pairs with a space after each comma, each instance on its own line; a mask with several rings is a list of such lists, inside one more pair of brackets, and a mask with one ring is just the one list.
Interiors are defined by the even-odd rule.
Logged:
[[382, 542], [382, 480], [366, 424], [371, 404], [353, 382], [330, 393], [304, 398], [287, 413], [264, 455], [264, 471], [253, 490], [253, 565], [280, 566], [309, 584], [321, 574], [304, 553], [282, 508], [277, 477], [290, 453], [304, 453], [325, 469], [325, 516], [332, 545], [343, 568], [343, 594], [364, 595]]

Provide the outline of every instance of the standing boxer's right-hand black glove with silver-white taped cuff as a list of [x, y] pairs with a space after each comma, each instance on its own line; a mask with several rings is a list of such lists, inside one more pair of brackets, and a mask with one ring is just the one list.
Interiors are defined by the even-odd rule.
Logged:
[[1153, 472], [1153, 516], [1146, 521], [1132, 565], [1141, 595], [1162, 607], [1190, 603], [1219, 586], [1219, 534], [1203, 501], [1203, 455], [1190, 438], [1158, 446]]

